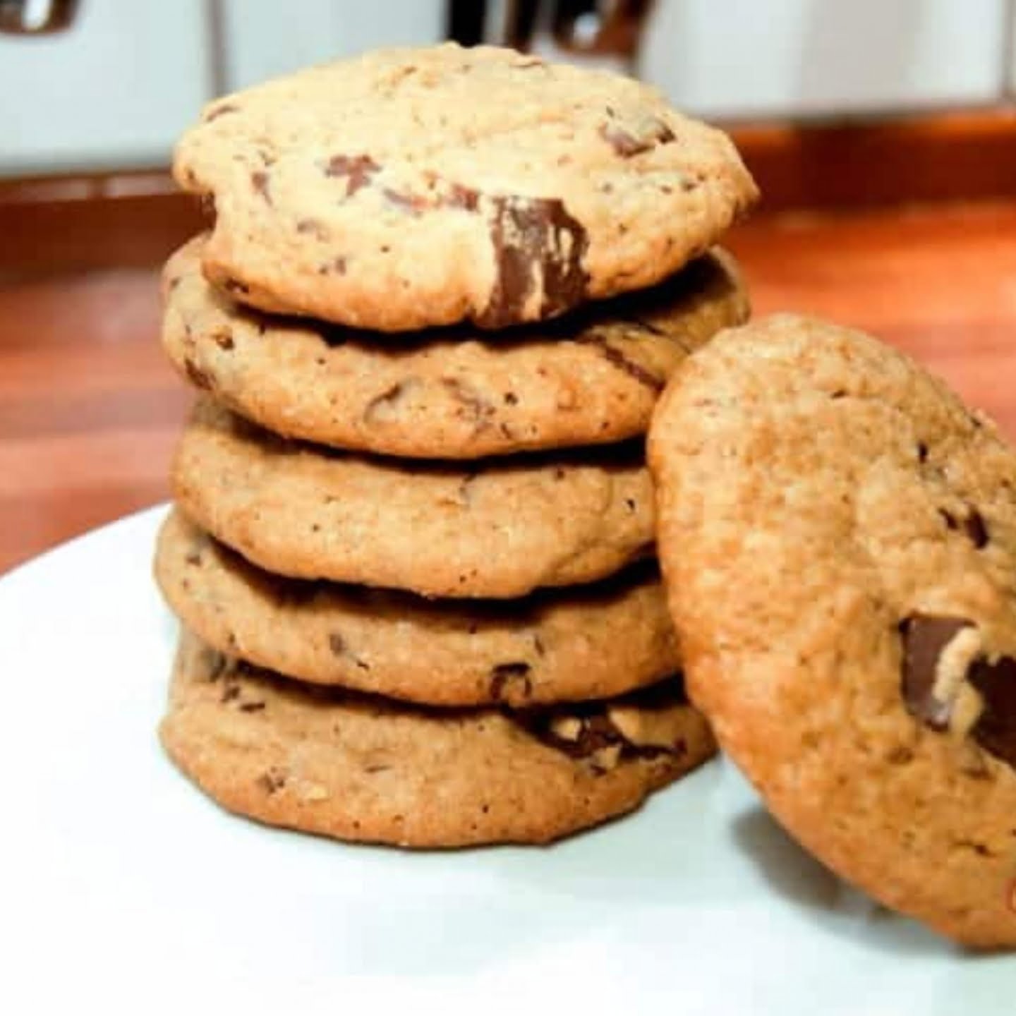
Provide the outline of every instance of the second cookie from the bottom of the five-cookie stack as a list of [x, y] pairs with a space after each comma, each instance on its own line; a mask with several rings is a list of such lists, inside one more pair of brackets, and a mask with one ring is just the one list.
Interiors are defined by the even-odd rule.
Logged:
[[430, 705], [608, 698], [679, 668], [653, 562], [518, 600], [435, 601], [270, 575], [174, 512], [155, 576], [183, 623], [221, 652]]

